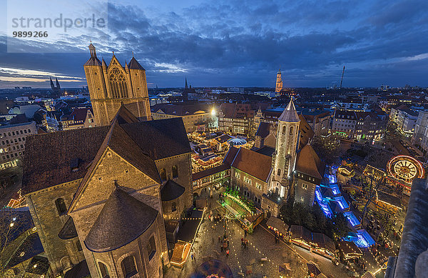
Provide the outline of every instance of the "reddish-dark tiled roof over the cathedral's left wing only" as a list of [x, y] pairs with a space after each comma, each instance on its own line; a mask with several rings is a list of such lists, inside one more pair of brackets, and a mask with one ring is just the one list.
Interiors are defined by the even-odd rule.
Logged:
[[[28, 136], [22, 194], [83, 178], [109, 128], [99, 126]], [[76, 171], [71, 169], [74, 159], [78, 159]]]

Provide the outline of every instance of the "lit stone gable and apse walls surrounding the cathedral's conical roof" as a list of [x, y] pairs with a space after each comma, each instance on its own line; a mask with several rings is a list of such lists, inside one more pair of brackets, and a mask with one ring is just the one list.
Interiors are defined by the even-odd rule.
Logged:
[[[103, 203], [108, 199], [111, 192], [113, 192], [115, 181], [121, 185], [123, 190], [131, 194], [132, 197], [158, 210], [158, 218], [152, 224], [151, 228], [144, 232], [136, 241], [111, 252], [91, 252], [86, 248], [84, 240], [95, 223], [98, 214], [101, 212]], [[161, 259], [164, 259], [164, 262], [168, 263], [165, 227], [161, 217], [160, 187], [161, 184], [157, 184], [153, 179], [131, 166], [131, 164], [128, 164], [122, 157], [107, 148], [93, 174], [91, 174], [91, 178], [86, 183], [85, 189], [83, 189], [80, 196], [76, 196], [77, 199], [73, 202], [75, 207], [71, 207], [70, 214], [76, 225], [85, 257], [95, 257], [96, 259], [101, 259], [103, 262], [110, 262], [106, 266], [108, 269], [114, 270], [111, 273], [111, 277], [124, 277], [121, 274], [121, 269], [116, 267], [120, 265], [119, 259], [126, 256], [126, 254], [144, 254], [144, 252], [139, 251], [140, 245], [143, 244], [143, 246], [146, 246], [147, 242], [145, 240], [151, 234], [156, 234], [156, 246], [158, 247], [158, 252], [163, 254], [163, 257], [158, 256], [156, 262], [148, 262], [148, 264], [143, 262], [143, 259], [147, 259], [144, 255], [143, 258], [139, 255], [135, 255], [134, 257], [136, 258], [138, 273], [141, 274], [140, 277], [159, 277], [158, 267], [161, 267]], [[126, 229], [126, 227], [123, 228]], [[93, 259], [86, 259], [86, 263], [88, 264], [91, 276], [97, 277], [100, 270]], [[140, 269], [145, 270], [140, 272]], [[149, 272], [146, 274], [150, 274], [148, 276], [144, 276], [146, 269]], [[116, 276], [114, 276], [115, 274]], [[151, 276], [152, 274], [153, 276]]]

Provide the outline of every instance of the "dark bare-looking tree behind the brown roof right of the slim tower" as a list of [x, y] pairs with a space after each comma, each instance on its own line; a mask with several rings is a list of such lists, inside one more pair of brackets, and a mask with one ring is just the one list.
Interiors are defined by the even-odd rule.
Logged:
[[320, 159], [325, 163], [333, 164], [337, 161], [340, 153], [340, 142], [334, 136], [315, 136], [311, 144]]

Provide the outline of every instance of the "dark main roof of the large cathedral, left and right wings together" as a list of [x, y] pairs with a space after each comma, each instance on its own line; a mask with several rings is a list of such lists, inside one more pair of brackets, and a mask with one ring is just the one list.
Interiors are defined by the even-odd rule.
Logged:
[[[23, 194], [82, 179], [102, 144], [108, 144], [156, 181], [160, 177], [156, 166], [153, 166], [153, 160], [190, 152], [183, 119], [135, 121], [136, 118], [126, 110], [123, 107], [116, 116], [113, 133], [108, 132], [111, 126], [97, 126], [28, 136], [24, 156]], [[106, 141], [107, 134], [113, 138], [111, 142], [110, 139]], [[73, 171], [71, 162], [76, 160], [78, 167]]]

